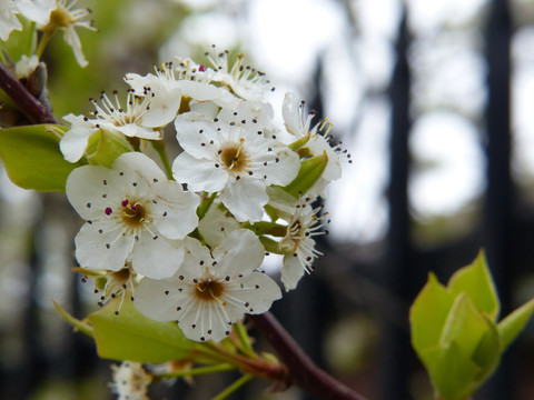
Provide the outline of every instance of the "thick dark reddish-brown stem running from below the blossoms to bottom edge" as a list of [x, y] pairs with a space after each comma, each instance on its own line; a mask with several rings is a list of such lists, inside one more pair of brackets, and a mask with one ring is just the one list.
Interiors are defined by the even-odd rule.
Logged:
[[256, 329], [276, 349], [289, 370], [294, 384], [320, 399], [365, 400], [365, 398], [318, 368], [270, 313], [248, 314]]

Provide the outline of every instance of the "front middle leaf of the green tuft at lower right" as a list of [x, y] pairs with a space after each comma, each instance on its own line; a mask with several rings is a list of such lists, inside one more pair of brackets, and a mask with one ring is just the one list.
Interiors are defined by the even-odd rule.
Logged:
[[447, 316], [439, 344], [454, 341], [463, 353], [471, 358], [487, 330], [487, 323], [482, 314], [475, 309], [467, 294], [462, 293], [455, 299]]

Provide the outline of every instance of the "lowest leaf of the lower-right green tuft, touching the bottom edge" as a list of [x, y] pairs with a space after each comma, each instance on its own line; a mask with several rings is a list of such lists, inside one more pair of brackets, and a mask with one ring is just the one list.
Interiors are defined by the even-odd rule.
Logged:
[[443, 400], [466, 400], [476, 389], [479, 368], [456, 342], [425, 350], [423, 358], [434, 389]]

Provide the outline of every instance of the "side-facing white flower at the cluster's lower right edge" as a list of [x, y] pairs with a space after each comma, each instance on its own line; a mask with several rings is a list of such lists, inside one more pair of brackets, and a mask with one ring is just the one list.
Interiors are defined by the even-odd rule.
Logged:
[[281, 268], [281, 282], [286, 291], [297, 287], [304, 272], [312, 273], [314, 260], [323, 256], [315, 249], [313, 237], [325, 233], [320, 231], [323, 224], [319, 221], [327, 214], [317, 218], [320, 208], [314, 210], [309, 206], [309, 200], [305, 199], [304, 202], [297, 203], [294, 212], [285, 216], [288, 222], [287, 233], [279, 242], [279, 247], [286, 253]]

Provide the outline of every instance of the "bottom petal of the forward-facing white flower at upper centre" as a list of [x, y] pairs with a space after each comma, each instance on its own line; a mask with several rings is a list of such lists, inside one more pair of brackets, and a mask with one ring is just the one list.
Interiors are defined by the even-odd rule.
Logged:
[[220, 200], [239, 222], [257, 222], [264, 216], [264, 206], [269, 201], [265, 182], [246, 177], [228, 181]]

